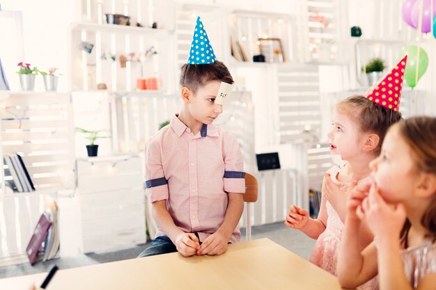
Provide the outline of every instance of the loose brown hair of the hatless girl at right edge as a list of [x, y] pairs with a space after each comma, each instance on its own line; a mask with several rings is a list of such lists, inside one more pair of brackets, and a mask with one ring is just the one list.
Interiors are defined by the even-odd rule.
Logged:
[[[400, 136], [412, 150], [416, 169], [436, 175], [436, 118], [414, 117], [396, 124]], [[424, 211], [421, 224], [436, 238], [436, 194]], [[410, 223], [405, 224], [402, 237], [407, 237]]]

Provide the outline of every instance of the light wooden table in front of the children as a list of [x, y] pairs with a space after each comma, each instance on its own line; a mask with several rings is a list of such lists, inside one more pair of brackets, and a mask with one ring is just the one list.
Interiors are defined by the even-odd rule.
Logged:
[[[45, 273], [0, 280], [0, 289], [27, 290]], [[341, 289], [322, 271], [270, 239], [235, 243], [221, 256], [178, 253], [61, 270], [47, 290]]]

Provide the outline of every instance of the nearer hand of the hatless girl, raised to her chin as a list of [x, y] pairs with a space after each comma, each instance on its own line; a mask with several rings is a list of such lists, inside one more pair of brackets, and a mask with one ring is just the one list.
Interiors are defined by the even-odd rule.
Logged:
[[377, 239], [399, 239], [406, 211], [403, 204], [387, 204], [375, 184], [371, 186], [368, 198], [357, 208], [357, 216], [365, 219]]

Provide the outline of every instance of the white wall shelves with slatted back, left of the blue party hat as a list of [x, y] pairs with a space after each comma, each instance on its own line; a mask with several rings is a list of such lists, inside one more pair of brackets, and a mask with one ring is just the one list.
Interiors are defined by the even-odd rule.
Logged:
[[[111, 91], [130, 92], [137, 79], [150, 78], [162, 90], [173, 86], [171, 80], [163, 81], [172, 68], [164, 56], [171, 54], [174, 24], [172, 17], [163, 17], [171, 11], [171, 1], [87, 0], [78, 10], [81, 22], [71, 28], [72, 90], [96, 90], [104, 83]], [[130, 17], [130, 26], [107, 24], [107, 13]]]

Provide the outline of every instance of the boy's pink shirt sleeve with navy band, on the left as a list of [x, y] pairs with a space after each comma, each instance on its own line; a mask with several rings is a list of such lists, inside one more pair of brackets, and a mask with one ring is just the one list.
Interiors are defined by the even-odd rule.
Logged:
[[159, 138], [153, 138], [146, 146], [146, 191], [148, 200], [168, 200], [168, 182], [162, 167]]

